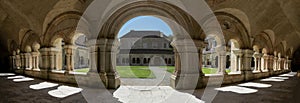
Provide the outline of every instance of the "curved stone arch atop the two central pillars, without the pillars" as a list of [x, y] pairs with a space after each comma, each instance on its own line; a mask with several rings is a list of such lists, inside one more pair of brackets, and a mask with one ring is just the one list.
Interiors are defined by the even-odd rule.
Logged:
[[[196, 33], [196, 31], [201, 30], [201, 27], [198, 24], [194, 24], [196, 21], [183, 10], [164, 2], [147, 1], [134, 2], [117, 10], [110, 16], [108, 21], [105, 22], [103, 26], [105, 28], [101, 29], [98, 38], [115, 38], [123, 24], [134, 17], [145, 15], [162, 19], [170, 26], [173, 33], [182, 32], [180, 28], [174, 26], [180, 25], [190, 34], [190, 37], [201, 40], [205, 38], [202, 32]], [[191, 29], [191, 26], [193, 29]], [[176, 36], [176, 34], [174, 34], [174, 36]]]

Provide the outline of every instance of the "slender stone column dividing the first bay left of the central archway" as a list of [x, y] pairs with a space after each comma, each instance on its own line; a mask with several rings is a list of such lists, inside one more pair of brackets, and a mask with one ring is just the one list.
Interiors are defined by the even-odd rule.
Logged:
[[74, 70], [74, 49], [75, 46], [73, 45], [65, 45], [64, 50], [65, 50], [65, 55], [66, 55], [66, 71], [65, 73], [69, 73]]

